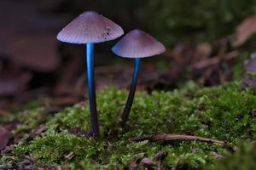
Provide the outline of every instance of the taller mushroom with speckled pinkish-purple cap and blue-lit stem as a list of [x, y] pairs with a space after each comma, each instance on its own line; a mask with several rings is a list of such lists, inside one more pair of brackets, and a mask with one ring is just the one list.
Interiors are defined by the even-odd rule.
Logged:
[[61, 42], [86, 44], [90, 122], [92, 133], [96, 139], [100, 136], [100, 130], [97, 120], [94, 82], [94, 43], [110, 41], [123, 34], [123, 29], [113, 21], [108, 20], [94, 11], [86, 11], [63, 28], [57, 36], [57, 39]]

